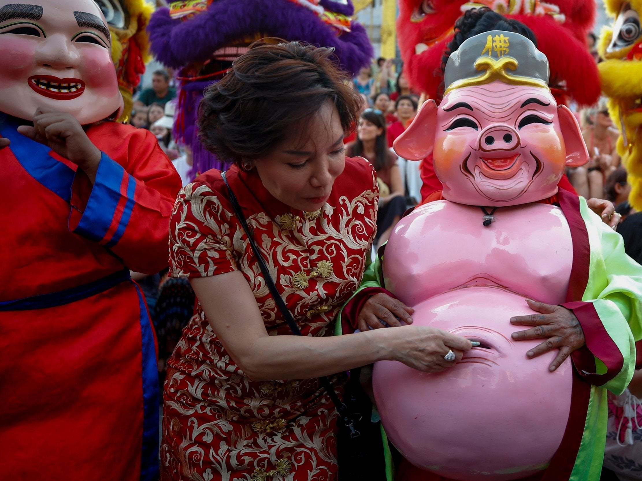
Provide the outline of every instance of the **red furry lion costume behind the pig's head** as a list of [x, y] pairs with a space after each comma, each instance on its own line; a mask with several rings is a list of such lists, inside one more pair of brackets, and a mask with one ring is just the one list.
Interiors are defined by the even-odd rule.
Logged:
[[[535, 33], [539, 51], [550, 62], [549, 85], [558, 105], [568, 105], [571, 101], [580, 106], [593, 105], [600, 97], [600, 78], [587, 48], [586, 36], [595, 21], [595, 2], [553, 1], [399, 0], [399, 49], [410, 87], [428, 98], [441, 99], [442, 56], [453, 40], [455, 21], [466, 10], [487, 6], [522, 22]], [[422, 199], [441, 190], [431, 160], [426, 159], [421, 167]], [[566, 176], [562, 182], [562, 187], [573, 190]]]

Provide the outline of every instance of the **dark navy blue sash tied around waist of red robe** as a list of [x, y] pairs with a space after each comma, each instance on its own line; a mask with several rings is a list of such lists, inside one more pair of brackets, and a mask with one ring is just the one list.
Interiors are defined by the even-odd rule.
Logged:
[[64, 291], [40, 294], [40, 296], [31, 296], [13, 301], [0, 301], [0, 311], [46, 309], [48, 307], [62, 306], [82, 299], [91, 298], [91, 296], [116, 287], [116, 285], [126, 280], [130, 280], [130, 274], [129, 271], [125, 269], [109, 274], [101, 279], [65, 289]]

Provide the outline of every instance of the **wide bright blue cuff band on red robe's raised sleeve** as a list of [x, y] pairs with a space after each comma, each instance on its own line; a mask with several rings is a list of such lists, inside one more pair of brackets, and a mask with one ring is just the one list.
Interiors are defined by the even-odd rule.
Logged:
[[[103, 241], [114, 221], [116, 207], [122, 197], [121, 183], [126, 174], [122, 165], [112, 160], [106, 153], [101, 152], [101, 154], [96, 180], [87, 205], [78, 226], [73, 230], [95, 242]], [[129, 174], [126, 175], [129, 176]], [[132, 181], [131, 176], [129, 177]]]

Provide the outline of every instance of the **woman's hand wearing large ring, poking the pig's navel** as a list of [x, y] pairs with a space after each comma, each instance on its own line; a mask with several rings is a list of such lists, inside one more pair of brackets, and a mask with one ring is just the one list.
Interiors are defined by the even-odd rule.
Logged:
[[[390, 331], [391, 335], [403, 336], [402, 347], [397, 350], [395, 360], [424, 373], [446, 371], [462, 360], [464, 351], [473, 347], [465, 337], [428, 326], [406, 326]], [[455, 353], [455, 360], [447, 361], [444, 356], [450, 350]]]

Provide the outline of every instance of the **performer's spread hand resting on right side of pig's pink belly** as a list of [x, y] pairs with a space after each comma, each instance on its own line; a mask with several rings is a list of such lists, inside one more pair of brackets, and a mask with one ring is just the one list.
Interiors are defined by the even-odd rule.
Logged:
[[555, 371], [562, 362], [586, 344], [584, 331], [575, 314], [565, 307], [554, 306], [527, 299], [528, 307], [540, 314], [516, 316], [510, 318], [510, 323], [520, 326], [534, 326], [525, 331], [512, 333], [515, 341], [524, 339], [546, 339], [535, 346], [526, 355], [529, 358], [540, 356], [548, 351], [559, 349], [559, 353], [548, 366], [549, 371]]

